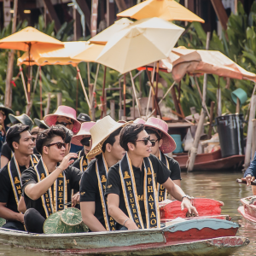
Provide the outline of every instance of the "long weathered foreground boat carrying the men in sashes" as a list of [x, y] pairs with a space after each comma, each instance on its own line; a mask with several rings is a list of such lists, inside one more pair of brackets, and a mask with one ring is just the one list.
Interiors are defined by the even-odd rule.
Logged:
[[83, 255], [227, 255], [246, 246], [239, 225], [223, 219], [192, 219], [161, 229], [38, 235], [0, 228], [0, 243]]

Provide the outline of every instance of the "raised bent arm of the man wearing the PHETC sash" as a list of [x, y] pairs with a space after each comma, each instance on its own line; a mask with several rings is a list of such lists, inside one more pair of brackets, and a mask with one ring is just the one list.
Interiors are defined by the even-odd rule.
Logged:
[[41, 195], [44, 195], [44, 193], [49, 189], [49, 187], [55, 182], [55, 180], [57, 179], [57, 177], [59, 177], [61, 172], [63, 172], [65, 169], [67, 169], [68, 166], [70, 166], [73, 163], [73, 160], [70, 159], [74, 158], [76, 155], [77, 154], [75, 153], [67, 154], [61, 161], [61, 165], [58, 166], [55, 169], [55, 171], [52, 172], [48, 177], [45, 177], [39, 183], [27, 184], [24, 190], [26, 195], [32, 200], [38, 200], [38, 198]]

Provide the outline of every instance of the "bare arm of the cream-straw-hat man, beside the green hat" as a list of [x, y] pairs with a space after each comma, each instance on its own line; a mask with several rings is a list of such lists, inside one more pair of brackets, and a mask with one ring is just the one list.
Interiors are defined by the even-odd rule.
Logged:
[[107, 231], [100, 221], [94, 216], [95, 214], [95, 202], [94, 201], [82, 201], [80, 203], [80, 209], [82, 213], [83, 222], [93, 232]]

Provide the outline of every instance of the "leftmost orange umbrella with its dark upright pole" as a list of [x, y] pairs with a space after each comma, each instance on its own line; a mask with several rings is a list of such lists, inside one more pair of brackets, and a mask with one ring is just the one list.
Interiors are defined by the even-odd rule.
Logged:
[[[0, 48], [2, 49], [17, 49], [28, 51], [28, 55], [30, 56], [30, 51], [32, 48], [41, 48], [41, 47], [50, 47], [51, 49], [64, 47], [63, 43], [55, 38], [52, 38], [44, 32], [39, 32], [36, 28], [27, 26], [26, 28], [20, 30], [20, 32], [15, 32], [9, 37], [3, 38], [0, 40]], [[27, 83], [27, 104], [30, 102], [30, 59], [29, 62], [29, 70], [28, 70], [28, 83]]]

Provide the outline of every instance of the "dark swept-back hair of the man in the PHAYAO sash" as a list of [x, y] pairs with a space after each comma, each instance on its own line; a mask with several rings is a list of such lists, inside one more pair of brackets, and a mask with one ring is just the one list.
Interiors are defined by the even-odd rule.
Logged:
[[120, 145], [125, 151], [128, 151], [128, 143], [132, 143], [136, 146], [137, 135], [143, 131], [145, 126], [143, 124], [131, 124], [125, 125], [120, 131]]

